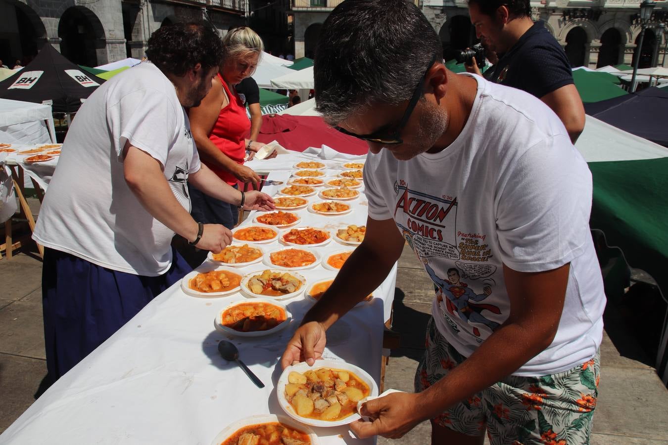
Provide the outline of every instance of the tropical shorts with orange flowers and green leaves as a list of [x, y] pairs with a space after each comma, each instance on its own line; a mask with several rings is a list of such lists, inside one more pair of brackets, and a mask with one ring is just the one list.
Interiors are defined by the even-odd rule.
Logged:
[[[446, 376], [466, 358], [427, 327], [424, 358], [415, 373], [415, 392]], [[599, 386], [599, 352], [570, 370], [540, 377], [509, 376], [432, 419], [469, 436], [485, 427], [490, 444], [589, 444]]]

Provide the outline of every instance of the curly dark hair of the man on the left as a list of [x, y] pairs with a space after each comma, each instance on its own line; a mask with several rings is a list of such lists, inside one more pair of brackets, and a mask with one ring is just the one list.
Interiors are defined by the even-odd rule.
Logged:
[[222, 63], [222, 42], [216, 29], [205, 21], [163, 26], [148, 39], [146, 57], [163, 73], [185, 75], [198, 63], [204, 69]]

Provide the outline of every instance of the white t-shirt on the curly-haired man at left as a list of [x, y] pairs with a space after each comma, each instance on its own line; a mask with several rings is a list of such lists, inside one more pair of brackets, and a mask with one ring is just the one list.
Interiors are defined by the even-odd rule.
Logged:
[[33, 238], [120, 272], [164, 274], [174, 232], [142, 206], [124, 179], [126, 141], [160, 161], [190, 211], [186, 181], [200, 169], [190, 123], [174, 85], [142, 63], [98, 87], [81, 105], [39, 211]]

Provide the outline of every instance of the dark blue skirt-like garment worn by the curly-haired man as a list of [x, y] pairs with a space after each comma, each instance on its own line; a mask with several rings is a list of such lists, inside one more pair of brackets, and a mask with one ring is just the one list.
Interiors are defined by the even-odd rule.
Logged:
[[49, 380], [55, 382], [146, 304], [192, 270], [172, 248], [172, 267], [145, 277], [44, 249], [42, 304]]

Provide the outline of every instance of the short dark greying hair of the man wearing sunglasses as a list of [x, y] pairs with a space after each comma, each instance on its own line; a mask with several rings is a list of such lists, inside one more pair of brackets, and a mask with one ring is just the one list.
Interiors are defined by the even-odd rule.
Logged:
[[331, 124], [372, 104], [413, 95], [443, 46], [412, 1], [345, 0], [327, 17], [315, 51], [317, 110]]

